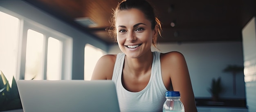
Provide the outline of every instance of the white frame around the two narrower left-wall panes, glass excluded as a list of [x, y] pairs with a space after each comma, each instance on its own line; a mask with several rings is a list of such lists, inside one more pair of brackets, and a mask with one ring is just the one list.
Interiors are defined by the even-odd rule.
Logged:
[[[62, 41], [63, 45], [62, 45], [62, 64], [61, 64], [61, 80], [68, 80], [68, 79], [71, 79], [72, 76], [72, 53], [71, 53], [71, 50], [72, 49], [68, 49], [67, 46], [71, 47], [72, 48], [72, 38], [66, 36], [65, 34], [61, 34], [57, 31], [55, 31], [54, 29], [50, 29], [48, 27], [45, 27], [43, 25], [40, 25], [36, 22], [33, 22], [33, 21], [28, 21], [28, 20], [24, 20], [23, 21], [23, 37], [22, 37], [22, 60], [25, 60], [26, 58], [26, 45], [27, 45], [27, 31], [31, 29], [31, 30], [34, 30], [34, 31], [37, 31], [41, 34], [43, 34], [44, 36], [44, 40], [43, 40], [43, 80], [46, 80], [47, 79], [47, 46], [48, 46], [48, 39], [50, 37], [52, 38], [55, 38], [57, 40], [60, 40]], [[70, 55], [70, 56], [67, 56], [67, 55]], [[70, 59], [68, 59], [70, 58]], [[69, 61], [69, 62], [66, 62], [66, 61]], [[70, 63], [70, 64], [67, 64], [67, 63]], [[25, 63], [23, 63], [25, 64]], [[24, 72], [21, 72], [20, 74], [22, 75], [22, 78], [24, 79], [24, 75], [25, 75], [25, 65], [22, 65], [23, 68], [22, 68], [22, 71]]]

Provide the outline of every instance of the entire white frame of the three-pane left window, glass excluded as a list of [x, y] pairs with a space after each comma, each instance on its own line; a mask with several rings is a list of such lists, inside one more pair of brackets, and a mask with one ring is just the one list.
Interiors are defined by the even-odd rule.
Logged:
[[46, 71], [47, 71], [47, 43], [48, 38], [56, 38], [62, 41], [62, 64], [61, 64], [61, 80], [71, 80], [72, 79], [72, 49], [73, 49], [73, 38], [67, 36], [61, 32], [56, 31], [55, 29], [51, 29], [44, 25], [41, 25], [38, 22], [34, 22], [29, 18], [25, 18], [20, 16], [19, 14], [9, 11], [4, 7], [0, 6], [0, 11], [3, 13], [7, 13], [13, 17], [19, 19], [19, 34], [18, 34], [18, 57], [17, 57], [17, 69], [15, 75], [13, 75], [16, 80], [24, 80], [25, 75], [25, 59], [26, 59], [26, 47], [27, 47], [27, 31], [28, 29], [37, 31], [44, 36], [43, 44], [43, 78], [42, 80], [46, 80]]

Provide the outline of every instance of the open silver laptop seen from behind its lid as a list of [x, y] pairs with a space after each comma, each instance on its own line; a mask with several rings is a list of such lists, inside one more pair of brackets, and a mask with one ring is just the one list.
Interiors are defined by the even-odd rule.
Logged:
[[110, 80], [18, 80], [24, 112], [120, 112]]

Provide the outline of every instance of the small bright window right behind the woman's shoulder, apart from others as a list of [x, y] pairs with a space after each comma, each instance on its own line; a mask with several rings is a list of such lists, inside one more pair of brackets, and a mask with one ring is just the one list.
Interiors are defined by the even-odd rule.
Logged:
[[85, 45], [84, 80], [91, 80], [93, 69], [99, 58], [104, 54], [106, 53], [97, 47], [94, 47], [90, 44]]

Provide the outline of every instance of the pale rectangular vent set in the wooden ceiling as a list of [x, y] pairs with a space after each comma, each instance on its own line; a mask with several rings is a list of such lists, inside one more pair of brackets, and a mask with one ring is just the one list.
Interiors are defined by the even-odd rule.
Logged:
[[84, 18], [76, 18], [74, 20], [75, 22], [79, 23], [80, 25], [84, 27], [97, 27], [97, 23], [94, 22], [92, 19], [89, 17], [84, 17]]

